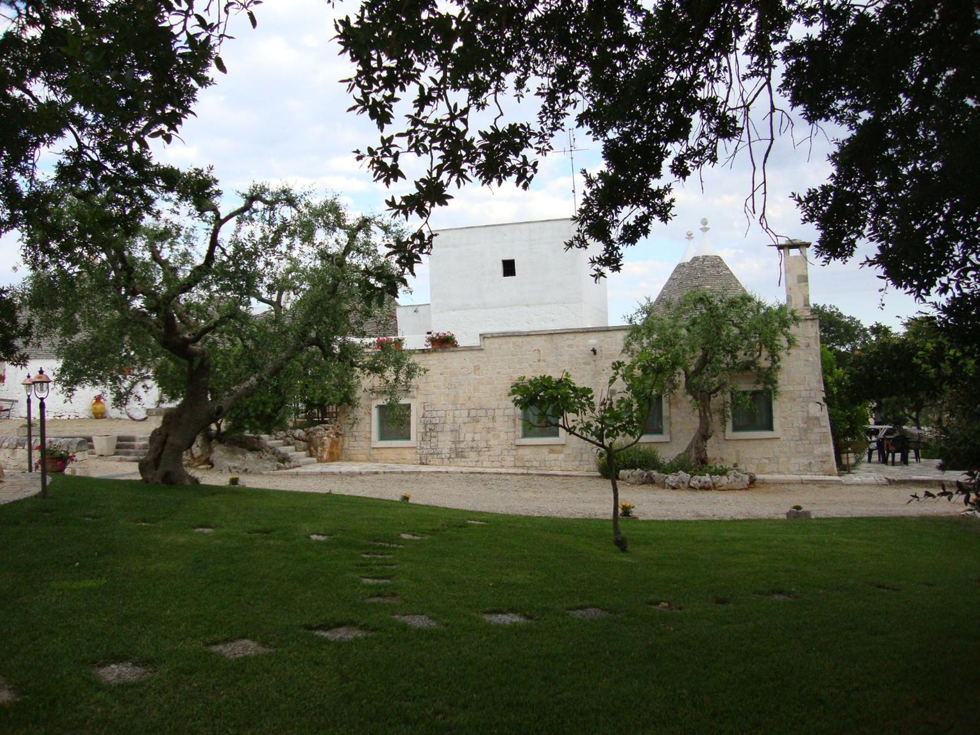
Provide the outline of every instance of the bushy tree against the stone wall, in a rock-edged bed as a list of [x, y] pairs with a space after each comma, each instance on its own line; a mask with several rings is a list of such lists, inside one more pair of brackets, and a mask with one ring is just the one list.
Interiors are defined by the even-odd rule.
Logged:
[[[782, 356], [796, 344], [792, 327], [798, 321], [785, 306], [768, 306], [749, 294], [724, 297], [697, 290], [656, 311], [648, 300], [630, 318], [624, 352], [657, 355], [664, 367], [675, 370], [670, 382], [683, 385], [698, 410], [698, 429], [682, 452], [696, 468], [708, 465], [711, 402], [730, 394], [736, 407], [748, 405], [748, 396], [733, 390], [739, 375], [751, 375], [775, 396]], [[728, 411], [723, 401], [723, 419]]]

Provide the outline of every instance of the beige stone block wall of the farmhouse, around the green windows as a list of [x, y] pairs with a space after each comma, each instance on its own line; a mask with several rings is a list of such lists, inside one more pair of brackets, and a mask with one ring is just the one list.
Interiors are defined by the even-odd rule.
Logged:
[[[835, 474], [830, 426], [823, 406], [816, 319], [797, 327], [799, 346], [783, 362], [774, 412], [778, 431], [760, 439], [726, 438], [721, 400], [715, 407], [712, 462], [760, 473]], [[478, 347], [419, 350], [427, 372], [406, 399], [415, 403], [416, 446], [372, 447], [371, 411], [378, 393], [368, 387], [345, 417], [343, 459], [419, 465], [594, 470], [595, 449], [572, 436], [559, 444], [519, 444], [518, 412], [508, 398], [519, 376], [571, 373], [597, 394], [620, 357], [626, 327], [485, 334]], [[595, 347], [597, 354], [592, 354]], [[670, 459], [684, 450], [697, 413], [681, 394], [669, 398], [669, 441], [652, 444]]]

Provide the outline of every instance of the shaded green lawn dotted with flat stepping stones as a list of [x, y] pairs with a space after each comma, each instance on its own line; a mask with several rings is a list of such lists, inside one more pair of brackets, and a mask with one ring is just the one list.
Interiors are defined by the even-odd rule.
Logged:
[[[193, 530], [203, 525], [214, 532]], [[608, 521], [59, 477], [49, 500], [0, 507], [0, 677], [20, 697], [0, 705], [0, 731], [965, 732], [980, 721], [977, 523], [624, 525], [628, 554]], [[380, 593], [403, 602], [365, 602]], [[614, 615], [566, 613], [586, 606]], [[532, 620], [495, 626], [484, 612]], [[374, 633], [312, 632], [341, 624]], [[239, 638], [272, 651], [207, 650]], [[92, 673], [122, 661], [153, 673], [115, 686]]]

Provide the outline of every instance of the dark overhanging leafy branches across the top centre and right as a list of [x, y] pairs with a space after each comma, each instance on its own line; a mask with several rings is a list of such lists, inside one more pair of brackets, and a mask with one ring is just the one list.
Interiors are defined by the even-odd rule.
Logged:
[[[975, 10], [963, 0], [362, 0], [337, 31], [356, 67], [352, 109], [380, 131], [361, 158], [405, 192], [388, 203], [399, 216], [426, 220], [470, 181], [527, 188], [577, 128], [603, 166], [584, 172], [569, 244], [602, 243], [595, 269], [615, 272], [624, 248], [669, 220], [676, 182], [738, 153], [761, 169], [748, 206], [766, 226], [769, 146], [792, 114], [834, 130], [827, 182], [796, 196], [820, 233], [817, 256], [846, 261], [870, 241], [867, 262], [884, 277], [977, 327], [980, 174], [964, 155], [980, 130]], [[404, 186], [415, 163], [415, 186]], [[419, 228], [396, 255], [412, 268], [430, 242]]]

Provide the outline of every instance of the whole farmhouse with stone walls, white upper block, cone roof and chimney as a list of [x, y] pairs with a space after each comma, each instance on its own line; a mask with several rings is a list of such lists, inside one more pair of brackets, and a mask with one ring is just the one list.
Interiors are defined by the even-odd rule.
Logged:
[[[703, 232], [708, 231], [707, 221]], [[409, 419], [387, 417], [381, 392], [366, 386], [346, 417], [343, 460], [419, 465], [591, 470], [595, 451], [558, 428], [528, 425], [508, 391], [521, 375], [567, 370], [597, 392], [620, 356], [626, 326], [609, 326], [606, 282], [589, 275], [588, 252], [565, 251], [570, 220], [442, 230], [430, 256], [431, 303], [399, 306], [398, 333], [426, 372], [405, 398]], [[690, 288], [740, 293], [744, 287], [711, 250], [689, 247], [658, 300]], [[817, 319], [809, 312], [807, 246], [790, 241], [784, 259], [787, 304], [802, 320], [798, 346], [783, 362], [769, 399], [753, 375], [754, 410], [734, 412], [709, 442], [712, 462], [760, 473], [836, 474], [824, 406]], [[429, 331], [452, 331], [460, 347], [426, 349]], [[718, 401], [728, 397], [719, 397]], [[715, 417], [720, 416], [720, 405]], [[716, 420], [719, 420], [716, 418]], [[670, 459], [683, 451], [697, 412], [682, 393], [663, 396], [641, 440]]]

